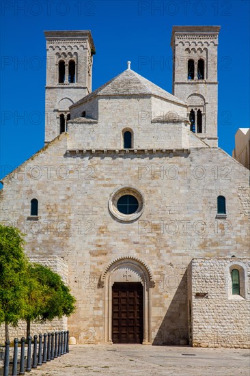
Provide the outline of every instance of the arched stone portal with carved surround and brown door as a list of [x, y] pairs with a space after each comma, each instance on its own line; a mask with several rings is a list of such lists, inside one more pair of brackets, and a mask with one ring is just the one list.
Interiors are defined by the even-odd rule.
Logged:
[[[100, 282], [104, 287], [105, 343], [150, 344], [154, 287], [150, 267], [134, 256], [122, 256], [107, 265]], [[136, 312], [131, 305], [137, 306]]]

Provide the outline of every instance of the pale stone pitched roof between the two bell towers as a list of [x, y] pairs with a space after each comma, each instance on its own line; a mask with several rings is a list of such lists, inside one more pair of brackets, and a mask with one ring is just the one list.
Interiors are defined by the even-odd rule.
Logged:
[[[94, 90], [94, 92], [78, 100], [76, 103], [74, 103], [74, 105], [79, 105], [90, 98], [94, 98], [95, 96], [107, 95], [153, 95], [167, 99], [173, 103], [186, 105], [183, 100], [169, 94], [151, 81], [148, 81], [148, 79], [138, 75], [137, 72], [130, 68], [124, 70], [124, 72], [120, 73], [120, 75], [117, 75], [104, 85], [100, 86], [100, 88]], [[70, 107], [74, 107], [74, 105]]]

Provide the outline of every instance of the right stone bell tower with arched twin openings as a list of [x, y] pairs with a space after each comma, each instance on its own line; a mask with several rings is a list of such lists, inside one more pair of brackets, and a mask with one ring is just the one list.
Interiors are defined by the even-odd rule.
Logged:
[[191, 131], [218, 146], [219, 26], [173, 26], [173, 95], [188, 104]]

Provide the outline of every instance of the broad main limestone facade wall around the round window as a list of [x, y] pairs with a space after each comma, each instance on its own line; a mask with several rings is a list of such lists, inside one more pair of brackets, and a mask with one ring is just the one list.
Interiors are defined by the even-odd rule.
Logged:
[[[112, 135], [110, 128], [107, 138]], [[100, 276], [121, 256], [152, 270], [151, 342], [187, 343], [192, 258], [249, 254], [249, 171], [217, 148], [138, 155], [67, 148], [62, 134], [3, 180], [1, 221], [27, 234], [29, 256], [58, 256], [68, 264], [77, 297], [68, 328], [79, 343], [105, 342]], [[143, 195], [143, 213], [125, 223], [111, 215], [109, 199], [131, 186]], [[224, 219], [217, 218], [219, 195], [227, 202]], [[38, 199], [36, 220], [29, 218], [32, 198]]]

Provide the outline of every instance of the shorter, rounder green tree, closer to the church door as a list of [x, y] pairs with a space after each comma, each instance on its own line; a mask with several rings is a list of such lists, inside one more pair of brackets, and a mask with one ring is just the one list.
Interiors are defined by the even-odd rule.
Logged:
[[23, 319], [27, 321], [27, 336], [31, 321], [52, 321], [69, 317], [75, 310], [76, 299], [59, 274], [40, 264], [29, 266], [29, 299]]

